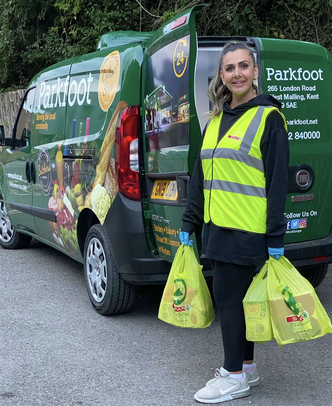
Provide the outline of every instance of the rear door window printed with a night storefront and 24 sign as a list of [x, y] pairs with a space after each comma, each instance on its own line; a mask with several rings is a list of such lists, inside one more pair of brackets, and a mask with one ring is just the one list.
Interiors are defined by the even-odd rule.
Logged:
[[189, 38], [173, 41], [146, 62], [146, 150], [189, 145]]

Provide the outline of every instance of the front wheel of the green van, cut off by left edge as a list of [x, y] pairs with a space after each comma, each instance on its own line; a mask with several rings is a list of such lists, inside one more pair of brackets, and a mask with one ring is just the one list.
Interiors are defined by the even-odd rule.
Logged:
[[15, 250], [27, 247], [31, 240], [32, 237], [29, 237], [29, 235], [24, 235], [14, 230], [4, 207], [4, 201], [0, 197], [0, 246], [7, 250]]

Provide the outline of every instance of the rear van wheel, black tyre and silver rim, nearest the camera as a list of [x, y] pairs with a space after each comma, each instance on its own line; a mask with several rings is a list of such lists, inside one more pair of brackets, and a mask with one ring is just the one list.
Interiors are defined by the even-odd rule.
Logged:
[[84, 276], [92, 306], [98, 313], [122, 314], [131, 309], [136, 287], [119, 274], [100, 224], [93, 225], [86, 236]]

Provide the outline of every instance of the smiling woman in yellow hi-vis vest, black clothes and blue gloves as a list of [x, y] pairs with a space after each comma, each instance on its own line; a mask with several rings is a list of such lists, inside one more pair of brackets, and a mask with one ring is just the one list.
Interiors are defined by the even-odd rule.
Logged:
[[[223, 402], [259, 384], [254, 343], [246, 340], [242, 300], [256, 272], [284, 253], [289, 145], [281, 104], [259, 94], [255, 56], [227, 43], [208, 88], [213, 103], [203, 130], [182, 217], [180, 241], [203, 225], [202, 253], [213, 268], [224, 359], [195, 399]], [[213, 365], [207, 368], [213, 367]]]

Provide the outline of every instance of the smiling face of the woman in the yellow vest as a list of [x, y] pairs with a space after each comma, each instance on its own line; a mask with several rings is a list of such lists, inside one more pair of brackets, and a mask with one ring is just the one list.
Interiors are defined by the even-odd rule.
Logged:
[[241, 96], [253, 91], [253, 80], [254, 76], [258, 76], [258, 67], [246, 50], [227, 52], [223, 57], [220, 76], [233, 94]]

